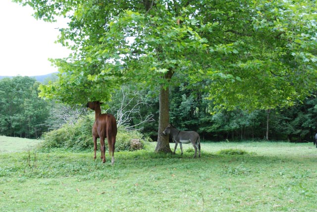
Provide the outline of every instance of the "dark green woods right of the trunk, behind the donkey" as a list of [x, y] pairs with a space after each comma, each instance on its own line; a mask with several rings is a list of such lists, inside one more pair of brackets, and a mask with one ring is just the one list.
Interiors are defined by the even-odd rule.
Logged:
[[[170, 122], [178, 129], [197, 131], [203, 140], [264, 138], [267, 116], [265, 110], [214, 111], [213, 102], [206, 99], [208, 92], [200, 89], [203, 86], [204, 84], [198, 84], [188, 87], [180, 84], [171, 87]], [[314, 94], [294, 106], [272, 109], [269, 116], [270, 140], [311, 142], [317, 130], [315, 96]]]

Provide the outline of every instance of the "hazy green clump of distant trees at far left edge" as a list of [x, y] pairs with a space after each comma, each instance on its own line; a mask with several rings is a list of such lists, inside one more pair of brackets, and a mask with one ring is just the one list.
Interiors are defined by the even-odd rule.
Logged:
[[43, 122], [50, 108], [38, 97], [39, 85], [30, 77], [0, 80], [0, 135], [38, 138], [48, 130]]

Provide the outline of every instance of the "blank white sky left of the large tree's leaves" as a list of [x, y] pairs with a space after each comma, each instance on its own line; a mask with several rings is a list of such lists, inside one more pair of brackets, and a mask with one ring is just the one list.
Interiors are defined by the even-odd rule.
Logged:
[[70, 53], [55, 44], [66, 21], [47, 23], [31, 16], [31, 7], [0, 0], [0, 75], [37, 76], [57, 71], [48, 58]]

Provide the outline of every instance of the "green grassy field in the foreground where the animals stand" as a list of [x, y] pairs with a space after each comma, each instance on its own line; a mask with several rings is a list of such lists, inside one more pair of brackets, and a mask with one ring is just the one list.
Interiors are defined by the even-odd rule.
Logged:
[[[155, 145], [116, 153], [113, 166], [92, 152], [0, 153], [0, 211], [317, 211], [312, 143], [202, 143], [201, 159], [190, 145], [183, 156]], [[248, 154], [219, 153], [227, 149]]]

